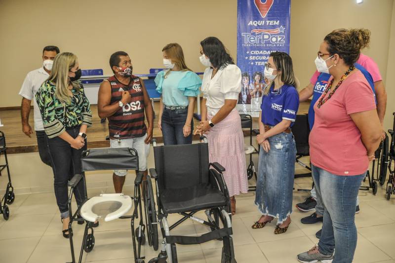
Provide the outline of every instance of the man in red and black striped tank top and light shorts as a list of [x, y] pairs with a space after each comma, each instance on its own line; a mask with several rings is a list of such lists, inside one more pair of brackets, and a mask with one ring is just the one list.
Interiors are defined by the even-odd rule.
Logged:
[[[139, 171], [144, 173], [145, 179], [154, 128], [154, 109], [143, 80], [132, 75], [133, 67], [127, 53], [118, 51], [112, 54], [110, 67], [114, 75], [104, 80], [99, 89], [99, 117], [108, 119], [111, 148], [137, 150]], [[122, 192], [126, 174], [127, 170], [114, 170], [116, 193]]]

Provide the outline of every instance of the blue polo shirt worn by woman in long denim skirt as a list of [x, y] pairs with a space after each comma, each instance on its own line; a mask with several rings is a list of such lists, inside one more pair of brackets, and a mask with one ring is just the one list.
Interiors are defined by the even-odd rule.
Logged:
[[292, 121], [293, 126], [296, 113], [299, 109], [299, 94], [294, 86], [282, 85], [274, 90], [274, 84], [270, 87], [268, 95], [262, 97], [262, 122], [269, 126], [276, 126], [283, 119]]

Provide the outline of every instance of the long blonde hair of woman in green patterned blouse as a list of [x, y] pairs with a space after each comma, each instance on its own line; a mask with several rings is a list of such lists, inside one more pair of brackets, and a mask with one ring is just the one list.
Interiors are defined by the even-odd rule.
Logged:
[[[70, 103], [69, 72], [76, 65], [77, 61], [77, 56], [70, 52], [56, 55], [53, 61], [52, 71], [47, 80], [55, 84], [56, 98], [62, 103]], [[70, 84], [76, 89], [80, 87], [79, 80], [70, 81]]]

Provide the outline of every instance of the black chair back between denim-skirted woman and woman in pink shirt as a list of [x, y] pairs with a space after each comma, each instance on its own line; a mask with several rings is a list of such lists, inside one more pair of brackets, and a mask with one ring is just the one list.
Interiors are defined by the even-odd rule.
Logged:
[[296, 142], [296, 155], [308, 156], [310, 127], [308, 115], [296, 115], [295, 124], [292, 126], [292, 133]]

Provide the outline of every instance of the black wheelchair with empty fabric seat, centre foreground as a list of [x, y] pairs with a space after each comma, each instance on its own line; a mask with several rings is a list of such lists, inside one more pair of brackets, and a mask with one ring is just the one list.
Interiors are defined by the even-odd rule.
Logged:
[[[206, 142], [205, 138], [201, 140]], [[222, 174], [225, 168], [219, 163], [209, 163], [207, 143], [157, 146], [154, 139], [153, 144], [155, 169], [151, 168], [151, 176], [147, 176], [146, 194], [149, 197], [153, 196], [154, 189], [150, 181], [154, 179], [158, 211], [151, 206], [153, 210], [149, 213], [153, 215], [158, 212], [168, 262], [178, 262], [176, 244], [201, 244], [217, 239], [223, 242], [221, 263], [236, 263], [229, 214], [230, 197]], [[207, 220], [194, 216], [202, 210], [205, 211]], [[169, 214], [179, 214], [182, 218], [169, 226]], [[187, 219], [206, 225], [211, 231], [201, 236], [179, 236], [170, 233]]]

